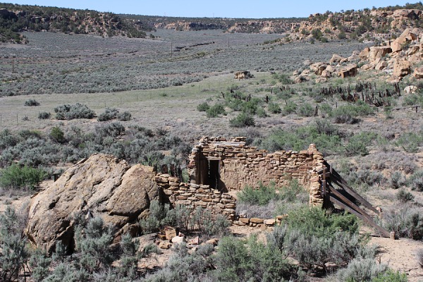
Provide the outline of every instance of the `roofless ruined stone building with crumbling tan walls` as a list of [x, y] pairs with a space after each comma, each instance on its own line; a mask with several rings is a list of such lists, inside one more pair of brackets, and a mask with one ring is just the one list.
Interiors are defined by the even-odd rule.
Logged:
[[158, 174], [157, 184], [171, 204], [188, 204], [210, 209], [212, 214], [227, 214], [235, 220], [234, 192], [259, 183], [286, 185], [296, 178], [309, 190], [309, 203], [323, 204], [318, 171], [323, 155], [315, 145], [304, 151], [269, 153], [246, 145], [246, 137], [202, 137], [190, 154], [189, 183], [168, 173]]

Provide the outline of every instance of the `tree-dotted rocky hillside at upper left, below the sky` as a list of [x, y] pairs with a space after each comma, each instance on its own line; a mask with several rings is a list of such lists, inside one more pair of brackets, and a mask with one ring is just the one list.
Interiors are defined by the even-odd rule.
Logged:
[[123, 20], [114, 13], [0, 3], [0, 42], [26, 42], [21, 35], [23, 31], [142, 38], [149, 30], [151, 28]]

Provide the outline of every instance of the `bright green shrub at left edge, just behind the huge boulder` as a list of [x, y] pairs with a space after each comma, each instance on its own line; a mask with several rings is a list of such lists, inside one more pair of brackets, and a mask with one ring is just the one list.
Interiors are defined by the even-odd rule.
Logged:
[[34, 189], [46, 176], [41, 168], [13, 164], [0, 171], [0, 185], [12, 189]]

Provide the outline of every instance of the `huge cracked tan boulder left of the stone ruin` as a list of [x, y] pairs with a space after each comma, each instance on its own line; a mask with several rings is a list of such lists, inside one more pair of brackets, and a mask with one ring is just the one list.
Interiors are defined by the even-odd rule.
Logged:
[[115, 238], [137, 232], [137, 219], [159, 198], [154, 168], [111, 155], [94, 154], [69, 168], [30, 202], [26, 233], [37, 247], [54, 251], [61, 241], [74, 246], [75, 216], [101, 217], [115, 228]]

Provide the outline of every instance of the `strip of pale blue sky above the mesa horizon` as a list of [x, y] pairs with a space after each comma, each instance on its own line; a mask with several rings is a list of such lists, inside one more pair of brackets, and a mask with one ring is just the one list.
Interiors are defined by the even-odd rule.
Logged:
[[[7, 1], [7, 0], [6, 0]], [[375, 6], [396, 6], [417, 1], [356, 0], [15, 0], [14, 4], [90, 9], [111, 13], [149, 16], [219, 17], [219, 18], [291, 18], [307, 17], [311, 13], [359, 10]]]

